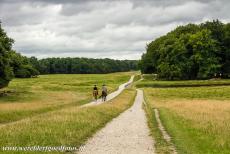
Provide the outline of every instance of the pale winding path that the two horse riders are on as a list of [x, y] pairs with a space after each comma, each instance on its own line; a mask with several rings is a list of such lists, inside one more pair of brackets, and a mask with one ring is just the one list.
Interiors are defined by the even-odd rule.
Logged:
[[[109, 94], [107, 96], [107, 98], [106, 98], [106, 101], [109, 101], [109, 100], [115, 98], [116, 96], [118, 96], [126, 87], [128, 87], [133, 82], [133, 79], [134, 79], [134, 75], [131, 76], [131, 78], [129, 79], [128, 82], [120, 85], [119, 88], [116, 91], [114, 91], [111, 94]], [[87, 107], [87, 106], [92, 106], [92, 105], [99, 105], [99, 104], [102, 104], [102, 103], [104, 103], [102, 101], [102, 99], [98, 99], [97, 101], [92, 101], [92, 102], [90, 102], [88, 104], [82, 105], [81, 107]]]

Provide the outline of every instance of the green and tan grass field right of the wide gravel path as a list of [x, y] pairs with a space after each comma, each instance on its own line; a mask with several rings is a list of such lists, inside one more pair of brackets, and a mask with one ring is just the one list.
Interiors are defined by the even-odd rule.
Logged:
[[[168, 88], [144, 88], [146, 112], [158, 153], [169, 153], [170, 150], [157, 128], [153, 108], [159, 109], [162, 123], [172, 136], [178, 153], [230, 153], [230, 86], [203, 86], [203, 83], [228, 84], [230, 80], [142, 82], [138, 83], [140, 87], [147, 83], [160, 87], [171, 85]], [[201, 87], [175, 88], [181, 83], [201, 84]]]

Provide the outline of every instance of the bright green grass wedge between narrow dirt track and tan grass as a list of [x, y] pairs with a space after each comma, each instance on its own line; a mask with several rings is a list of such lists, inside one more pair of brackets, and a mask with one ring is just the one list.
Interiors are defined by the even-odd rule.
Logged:
[[[208, 133], [203, 128], [194, 127], [194, 121], [181, 117], [169, 109], [162, 108], [160, 112], [179, 154], [229, 154], [230, 141], [226, 137], [222, 138], [223, 135], [221, 137], [215, 132]], [[221, 140], [224, 140], [224, 145], [220, 144]]]

